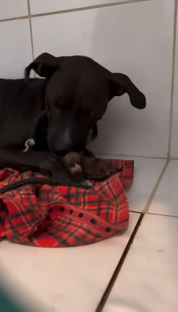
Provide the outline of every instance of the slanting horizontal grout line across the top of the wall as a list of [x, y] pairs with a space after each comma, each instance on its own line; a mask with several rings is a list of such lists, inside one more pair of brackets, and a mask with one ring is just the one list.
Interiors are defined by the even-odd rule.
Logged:
[[[27, 0], [29, 3], [29, 0]], [[122, 4], [130, 4], [130, 3], [139, 3], [139, 2], [147, 2], [147, 1], [153, 1], [153, 0], [128, 0], [125, 2], [115, 2], [115, 3], [106, 3], [106, 4], [99, 4], [99, 5], [93, 5], [93, 6], [88, 6], [88, 7], [79, 7], [79, 8], [74, 8], [74, 9], [66, 9], [66, 10], [59, 10], [59, 11], [54, 11], [54, 12], [47, 12], [47, 13], [40, 13], [40, 14], [29, 14], [21, 17], [12, 17], [12, 18], [6, 18], [0, 20], [0, 22], [8, 22], [8, 21], [14, 21], [18, 19], [25, 19], [25, 18], [32, 18], [32, 17], [40, 17], [40, 16], [48, 16], [48, 15], [55, 15], [55, 14], [62, 14], [62, 13], [70, 13], [70, 12], [77, 12], [77, 11], [86, 11], [86, 10], [91, 10], [91, 9], [98, 9], [102, 7], [114, 7]], [[30, 8], [30, 5], [29, 7]]]

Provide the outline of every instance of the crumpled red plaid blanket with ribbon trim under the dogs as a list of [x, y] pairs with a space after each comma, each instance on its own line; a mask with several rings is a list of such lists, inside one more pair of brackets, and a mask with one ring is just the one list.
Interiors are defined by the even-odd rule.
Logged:
[[[132, 182], [133, 161], [107, 160], [123, 171], [89, 190], [26, 185], [0, 194], [0, 240], [43, 247], [79, 246], [115, 234], [128, 225], [123, 187]], [[24, 178], [43, 177], [11, 168], [0, 171], [0, 188]]]

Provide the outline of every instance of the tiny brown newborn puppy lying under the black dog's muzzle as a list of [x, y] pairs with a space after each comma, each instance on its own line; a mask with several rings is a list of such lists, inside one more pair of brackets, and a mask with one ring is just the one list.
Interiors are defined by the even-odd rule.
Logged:
[[71, 173], [82, 173], [89, 180], [102, 181], [121, 171], [114, 169], [101, 158], [82, 156], [76, 152], [65, 155], [64, 163]]

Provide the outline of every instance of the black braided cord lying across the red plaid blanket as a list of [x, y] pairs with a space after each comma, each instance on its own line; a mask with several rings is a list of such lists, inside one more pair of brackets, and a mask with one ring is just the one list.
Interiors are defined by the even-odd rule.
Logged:
[[0, 194], [4, 194], [16, 188], [21, 188], [22, 186], [25, 186], [28, 184], [48, 184], [48, 185], [53, 185], [53, 186], [69, 186], [69, 187], [84, 188], [84, 189], [91, 188], [91, 185], [87, 185], [87, 184], [84, 186], [81, 186], [76, 183], [75, 185], [74, 181], [71, 181], [71, 182], [67, 181], [67, 182], [61, 183], [60, 179], [55, 179], [55, 178], [26, 178], [26, 179], [15, 181], [15, 182], [12, 182], [10, 184], [3, 186], [2, 188], [0, 188]]

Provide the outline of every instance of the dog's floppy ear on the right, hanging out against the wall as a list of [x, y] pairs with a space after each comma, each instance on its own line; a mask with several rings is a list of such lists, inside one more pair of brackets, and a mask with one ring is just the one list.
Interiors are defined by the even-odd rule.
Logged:
[[132, 106], [142, 110], [146, 106], [145, 95], [140, 92], [132, 81], [124, 74], [111, 73], [109, 79], [111, 99], [114, 96], [121, 96], [128, 93]]

